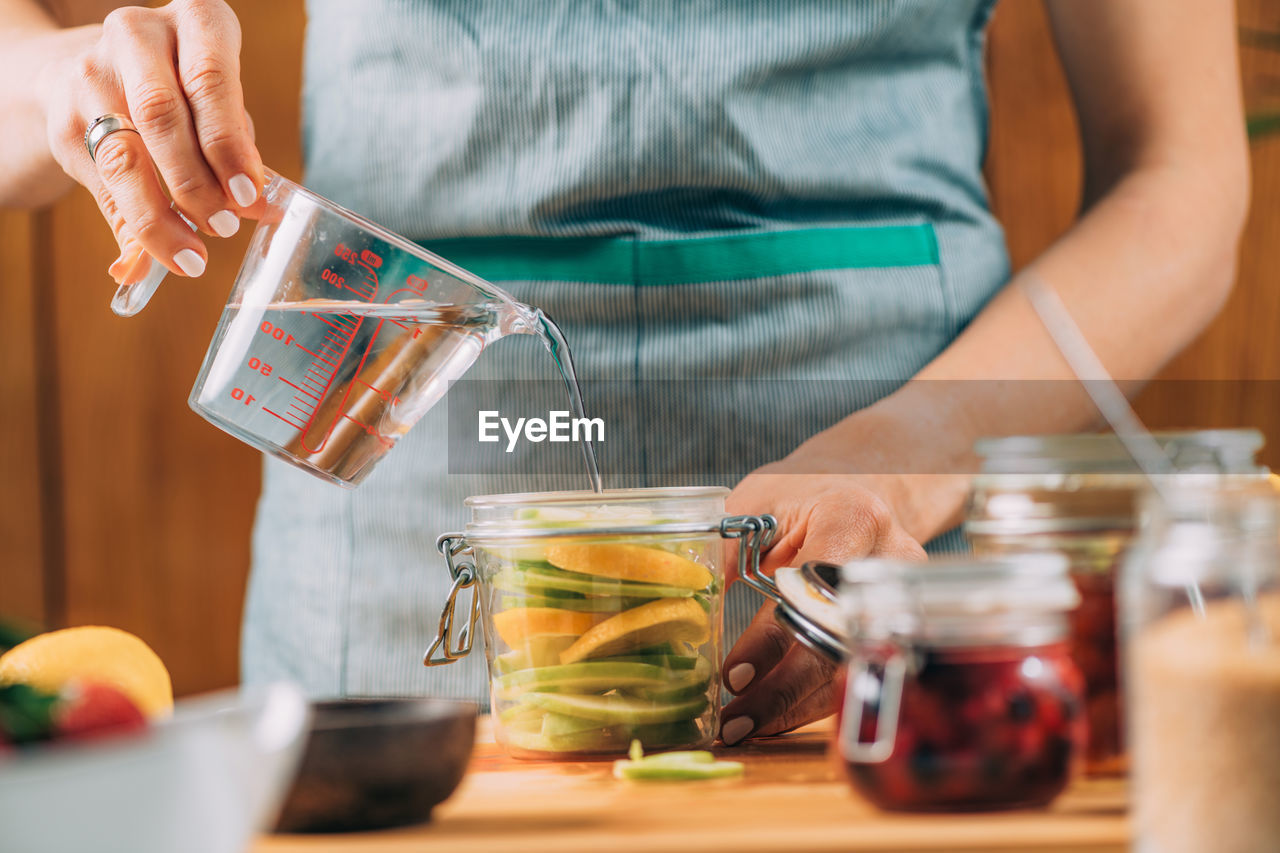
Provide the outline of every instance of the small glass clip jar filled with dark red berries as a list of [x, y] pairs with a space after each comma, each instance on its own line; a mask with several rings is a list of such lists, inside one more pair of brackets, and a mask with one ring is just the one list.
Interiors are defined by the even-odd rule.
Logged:
[[1066, 560], [854, 562], [840, 598], [850, 654], [838, 747], [863, 797], [984, 811], [1043, 806], [1068, 786], [1087, 722]]

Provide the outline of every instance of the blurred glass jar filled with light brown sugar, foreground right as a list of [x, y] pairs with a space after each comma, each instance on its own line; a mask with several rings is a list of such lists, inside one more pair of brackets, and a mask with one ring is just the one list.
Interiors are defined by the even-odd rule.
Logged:
[[1147, 500], [1121, 587], [1135, 849], [1280, 845], [1280, 502], [1240, 483]]

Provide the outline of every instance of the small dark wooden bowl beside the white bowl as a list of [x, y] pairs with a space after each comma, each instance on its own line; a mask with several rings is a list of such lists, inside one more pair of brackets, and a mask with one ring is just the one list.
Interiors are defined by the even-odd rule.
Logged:
[[476, 706], [445, 699], [317, 702], [276, 833], [355, 833], [430, 820], [462, 781]]

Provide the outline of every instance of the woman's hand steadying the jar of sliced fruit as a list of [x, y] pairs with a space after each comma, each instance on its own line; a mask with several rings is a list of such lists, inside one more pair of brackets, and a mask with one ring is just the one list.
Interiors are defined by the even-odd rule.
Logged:
[[[847, 418], [739, 483], [728, 498], [732, 515], [769, 514], [778, 521], [762, 561], [765, 574], [814, 560], [923, 560], [920, 542], [956, 520], [968, 478], [931, 473], [957, 466], [940, 457], [946, 442], [925, 409], [936, 414], [943, 405], [909, 397], [900, 393]], [[724, 707], [721, 739], [732, 745], [832, 713], [840, 699], [835, 672], [833, 663], [796, 643], [765, 603], [724, 658], [724, 684], [737, 698]]]

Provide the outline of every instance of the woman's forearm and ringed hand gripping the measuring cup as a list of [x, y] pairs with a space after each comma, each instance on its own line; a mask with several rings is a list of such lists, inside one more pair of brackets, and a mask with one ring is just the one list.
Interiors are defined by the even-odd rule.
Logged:
[[[114, 10], [111, 10], [114, 6]], [[100, 24], [64, 24], [100, 18]], [[0, 206], [37, 206], [68, 178], [83, 184], [122, 252], [146, 251], [200, 275], [207, 251], [170, 210], [220, 237], [239, 227], [262, 183], [239, 82], [239, 23], [223, 0], [159, 8], [106, 0], [0, 0]], [[137, 133], [84, 150], [109, 113]], [[165, 192], [168, 188], [168, 193]]]

